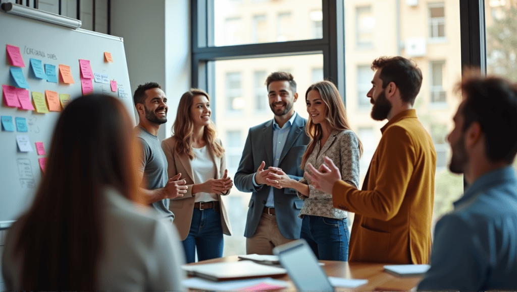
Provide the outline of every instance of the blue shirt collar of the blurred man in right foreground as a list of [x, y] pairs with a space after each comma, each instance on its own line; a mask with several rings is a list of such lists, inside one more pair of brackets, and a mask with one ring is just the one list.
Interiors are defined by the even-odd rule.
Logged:
[[480, 193], [501, 183], [517, 183], [517, 175], [512, 166], [501, 167], [478, 177], [472, 185], [468, 186], [463, 196], [458, 201], [452, 203], [454, 209], [461, 208], [463, 205], [468, 204], [470, 200], [477, 198]]

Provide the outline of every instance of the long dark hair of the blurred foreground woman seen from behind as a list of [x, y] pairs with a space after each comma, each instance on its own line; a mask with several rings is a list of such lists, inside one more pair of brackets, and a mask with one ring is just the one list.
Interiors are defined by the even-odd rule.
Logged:
[[15, 223], [21, 290], [99, 289], [105, 188], [139, 201], [132, 124], [108, 95], [83, 96], [63, 110], [34, 202]]

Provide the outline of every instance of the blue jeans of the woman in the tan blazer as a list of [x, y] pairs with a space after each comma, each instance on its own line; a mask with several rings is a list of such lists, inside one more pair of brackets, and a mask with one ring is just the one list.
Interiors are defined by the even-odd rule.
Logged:
[[196, 250], [199, 261], [223, 255], [221, 216], [214, 208], [204, 210], [194, 208], [189, 235], [183, 240], [183, 247], [187, 264], [195, 262]]

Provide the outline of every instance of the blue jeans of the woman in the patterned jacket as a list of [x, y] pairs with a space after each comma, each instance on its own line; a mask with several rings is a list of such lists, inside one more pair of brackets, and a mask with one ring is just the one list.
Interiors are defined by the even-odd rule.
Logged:
[[342, 262], [348, 260], [350, 233], [346, 218], [303, 215], [300, 238], [307, 240], [318, 259]]

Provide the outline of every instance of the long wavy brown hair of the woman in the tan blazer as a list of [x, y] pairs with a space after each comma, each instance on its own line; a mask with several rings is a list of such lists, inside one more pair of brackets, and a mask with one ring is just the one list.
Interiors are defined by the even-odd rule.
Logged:
[[[192, 150], [192, 133], [194, 131], [194, 123], [190, 110], [192, 108], [194, 96], [204, 95], [210, 101], [210, 96], [203, 89], [191, 88], [189, 91], [181, 95], [178, 104], [178, 112], [176, 113], [176, 120], [172, 125], [172, 135], [176, 137], [176, 152], [178, 154], [187, 154], [189, 158], [194, 159], [194, 151]], [[216, 127], [210, 120], [210, 123], [205, 126], [203, 132], [203, 139], [205, 139], [208, 149], [215, 156], [221, 157], [224, 153], [223, 147], [216, 142]]]

